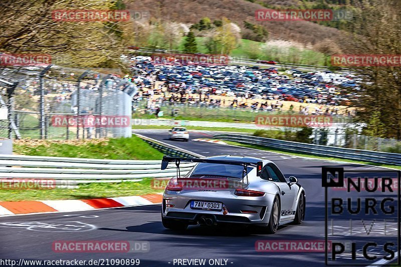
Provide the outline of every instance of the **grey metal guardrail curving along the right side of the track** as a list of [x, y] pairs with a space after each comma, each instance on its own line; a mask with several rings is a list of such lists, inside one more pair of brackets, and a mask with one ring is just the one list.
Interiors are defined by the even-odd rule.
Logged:
[[306, 154], [319, 155], [319, 156], [362, 160], [362, 161], [384, 163], [391, 165], [401, 165], [401, 154], [395, 154], [395, 153], [341, 148], [333, 146], [322, 146], [315, 144], [305, 144], [292, 141], [283, 141], [271, 138], [239, 135], [239, 134], [216, 134], [214, 135], [214, 138], [227, 141], [236, 141], [243, 144], [272, 147], [298, 153], [302, 152]]

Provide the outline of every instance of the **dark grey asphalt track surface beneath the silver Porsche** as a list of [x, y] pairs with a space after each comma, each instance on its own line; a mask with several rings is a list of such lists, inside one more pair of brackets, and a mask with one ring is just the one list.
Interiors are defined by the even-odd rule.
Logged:
[[[186, 231], [165, 229], [160, 205], [81, 212], [0, 217], [0, 258], [90, 260], [139, 258], [141, 266], [178, 266], [174, 259], [226, 259], [229, 266], [324, 266], [324, 252], [257, 252], [257, 240], [324, 240], [324, 190], [321, 166], [373, 170], [377, 167], [306, 159], [199, 141], [167, 140], [166, 130], [137, 130], [142, 135], [195, 153], [247, 155], [273, 160], [286, 177], [294, 175], [306, 190], [306, 217], [301, 225], [286, 225], [274, 235], [253, 228], [189, 226]], [[211, 138], [212, 132], [192, 131], [190, 139]], [[350, 237], [354, 238], [354, 237]], [[54, 252], [57, 240], [148, 241], [148, 252]], [[225, 261], [223, 260], [223, 263]], [[372, 263], [372, 262], [366, 262]], [[122, 265], [120, 265], [122, 266]], [[181, 265], [182, 266], [182, 265]]]

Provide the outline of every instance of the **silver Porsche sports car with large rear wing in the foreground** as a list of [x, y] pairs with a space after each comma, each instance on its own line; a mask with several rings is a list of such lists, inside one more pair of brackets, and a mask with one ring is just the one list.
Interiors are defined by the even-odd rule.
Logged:
[[[179, 163], [197, 163], [180, 177]], [[297, 178], [284, 177], [270, 160], [242, 156], [205, 159], [164, 156], [161, 169], [175, 162], [177, 177], [163, 193], [163, 226], [184, 230], [189, 224], [224, 223], [263, 226], [275, 233], [279, 225], [300, 224], [305, 217], [305, 190]]]

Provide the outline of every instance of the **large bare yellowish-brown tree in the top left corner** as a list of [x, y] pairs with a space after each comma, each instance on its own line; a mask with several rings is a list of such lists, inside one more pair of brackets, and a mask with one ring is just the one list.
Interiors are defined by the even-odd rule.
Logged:
[[120, 4], [113, 0], [3, 0], [0, 51], [50, 54], [64, 66], [120, 64], [125, 48], [120, 27], [126, 22], [63, 22], [52, 18], [55, 10], [110, 10]]

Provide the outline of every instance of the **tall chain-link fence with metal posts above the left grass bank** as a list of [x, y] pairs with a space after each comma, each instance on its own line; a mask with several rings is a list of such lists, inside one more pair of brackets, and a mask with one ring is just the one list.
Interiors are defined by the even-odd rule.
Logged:
[[1, 138], [131, 136], [136, 86], [118, 75], [59, 66], [0, 69]]

